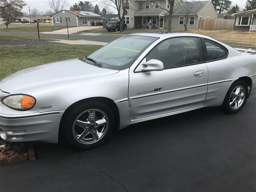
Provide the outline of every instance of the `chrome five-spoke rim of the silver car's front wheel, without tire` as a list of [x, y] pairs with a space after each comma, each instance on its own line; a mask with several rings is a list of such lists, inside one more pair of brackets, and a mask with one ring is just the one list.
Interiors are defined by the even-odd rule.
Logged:
[[82, 144], [92, 144], [103, 138], [108, 130], [108, 117], [98, 109], [82, 112], [74, 121], [74, 138]]

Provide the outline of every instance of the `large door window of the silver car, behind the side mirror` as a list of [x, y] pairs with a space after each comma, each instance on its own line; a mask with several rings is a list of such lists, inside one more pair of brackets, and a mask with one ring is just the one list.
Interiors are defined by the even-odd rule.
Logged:
[[158, 44], [146, 56], [146, 61], [157, 59], [163, 62], [164, 68], [186, 66], [200, 62], [198, 38], [170, 38]]

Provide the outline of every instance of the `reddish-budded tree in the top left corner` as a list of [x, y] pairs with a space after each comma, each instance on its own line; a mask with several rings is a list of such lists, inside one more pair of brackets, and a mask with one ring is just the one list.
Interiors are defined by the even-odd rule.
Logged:
[[6, 28], [8, 24], [17, 18], [23, 16], [22, 8], [26, 3], [24, 0], [1, 0], [0, 1], [0, 17], [5, 21]]

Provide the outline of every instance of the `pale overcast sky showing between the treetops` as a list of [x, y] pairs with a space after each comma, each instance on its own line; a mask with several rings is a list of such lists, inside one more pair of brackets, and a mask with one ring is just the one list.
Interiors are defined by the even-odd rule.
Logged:
[[[37, 8], [40, 12], [45, 12], [47, 10], [50, 10], [50, 7], [48, 6], [48, 0], [25, 0], [26, 6], [23, 7], [23, 11], [28, 13], [28, 6], [30, 6], [30, 10], [32, 8]], [[68, 0], [69, 5], [65, 7], [64, 9], [69, 9], [70, 5], [74, 5], [75, 3], [78, 3], [79, 0]], [[240, 10], [242, 11], [244, 9], [246, 0], [233, 0], [232, 5], [238, 4], [240, 6]], [[103, 6], [100, 4], [100, 0], [93, 0], [92, 4], [98, 4], [100, 7], [100, 10], [102, 10]], [[111, 8], [113, 10], [113, 8]], [[116, 12], [115, 10], [113, 10]]]

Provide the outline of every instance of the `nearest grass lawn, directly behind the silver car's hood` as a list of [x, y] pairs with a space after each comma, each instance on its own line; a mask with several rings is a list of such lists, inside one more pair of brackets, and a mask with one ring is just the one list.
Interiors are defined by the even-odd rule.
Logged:
[[100, 45], [0, 46], [0, 80], [33, 66], [89, 55]]

